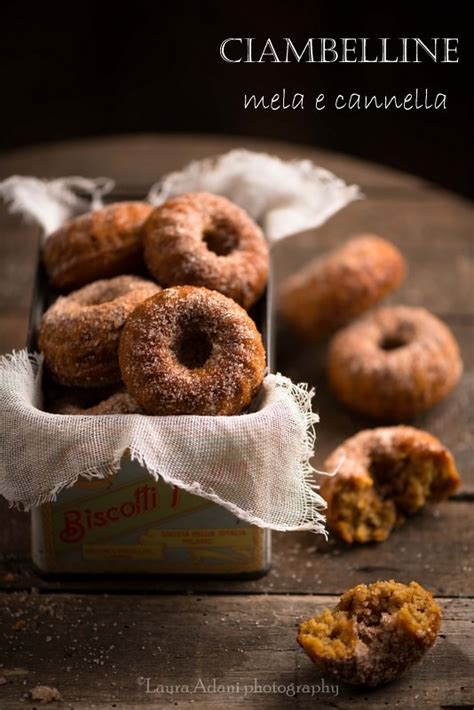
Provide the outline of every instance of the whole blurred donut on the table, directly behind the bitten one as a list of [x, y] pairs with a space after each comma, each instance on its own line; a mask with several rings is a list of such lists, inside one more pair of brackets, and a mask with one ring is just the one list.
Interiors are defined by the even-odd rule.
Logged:
[[429, 409], [457, 384], [462, 362], [449, 328], [424, 308], [379, 308], [337, 333], [329, 380], [344, 404], [389, 421]]

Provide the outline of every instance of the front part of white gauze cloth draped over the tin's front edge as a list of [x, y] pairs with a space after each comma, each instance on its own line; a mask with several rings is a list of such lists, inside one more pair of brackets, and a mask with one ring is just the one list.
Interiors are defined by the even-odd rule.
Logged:
[[43, 358], [0, 359], [0, 494], [30, 508], [79, 476], [104, 478], [127, 452], [155, 478], [273, 530], [324, 532], [310, 464], [313, 392], [267, 375], [251, 412], [233, 417], [50, 414], [41, 410]]

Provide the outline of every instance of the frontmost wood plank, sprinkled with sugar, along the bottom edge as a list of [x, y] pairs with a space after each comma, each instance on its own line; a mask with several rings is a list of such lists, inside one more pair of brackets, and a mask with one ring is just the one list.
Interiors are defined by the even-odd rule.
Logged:
[[[260, 596], [249, 602], [235, 596], [2, 595], [0, 677], [6, 683], [0, 703], [11, 710], [25, 707], [28, 689], [44, 684], [63, 697], [54, 707], [75, 710], [222, 708], [244, 700], [259, 708], [472, 706], [473, 600], [441, 600], [436, 645], [400, 679], [367, 690], [325, 675], [326, 691], [318, 692], [323, 677], [297, 646], [296, 628], [336, 602], [328, 596]], [[23, 628], [13, 630], [18, 626]], [[148, 686], [142, 678], [150, 679]], [[234, 688], [212, 692], [214, 682]], [[314, 686], [315, 695], [287, 697], [296, 685]], [[167, 693], [159, 686], [181, 688]], [[278, 686], [284, 688], [278, 692]]]

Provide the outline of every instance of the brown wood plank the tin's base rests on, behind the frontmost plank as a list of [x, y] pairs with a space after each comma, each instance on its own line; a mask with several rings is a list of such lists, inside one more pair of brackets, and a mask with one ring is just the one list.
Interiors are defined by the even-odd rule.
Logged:
[[312, 533], [274, 533], [272, 569], [257, 580], [40, 576], [28, 562], [28, 516], [15, 513], [14, 524], [9, 525], [9, 547], [4, 546], [4, 536], [1, 538], [4, 557], [0, 563], [0, 588], [45, 592], [341, 594], [348, 586], [393, 577], [401, 582], [415, 579], [438, 596], [474, 596], [474, 526], [470, 525], [473, 510], [472, 503], [462, 500], [426, 508], [379, 545], [350, 547], [332, 537], [325, 541]]

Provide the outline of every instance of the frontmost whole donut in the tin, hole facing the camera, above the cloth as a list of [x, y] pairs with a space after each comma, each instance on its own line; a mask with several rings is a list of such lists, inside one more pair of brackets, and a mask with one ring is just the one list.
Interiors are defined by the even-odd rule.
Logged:
[[265, 351], [235, 301], [176, 286], [142, 303], [120, 339], [127, 390], [149, 414], [239, 414], [262, 383]]

